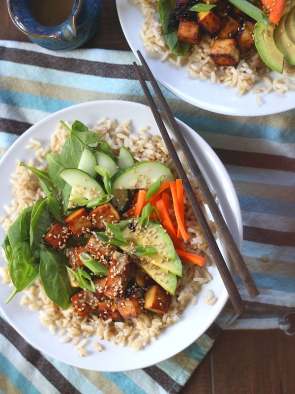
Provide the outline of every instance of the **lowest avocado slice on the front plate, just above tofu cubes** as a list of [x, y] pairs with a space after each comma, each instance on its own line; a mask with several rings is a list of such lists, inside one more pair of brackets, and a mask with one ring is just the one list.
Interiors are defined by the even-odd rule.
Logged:
[[147, 274], [168, 293], [175, 295], [177, 276], [150, 263], [136, 262]]

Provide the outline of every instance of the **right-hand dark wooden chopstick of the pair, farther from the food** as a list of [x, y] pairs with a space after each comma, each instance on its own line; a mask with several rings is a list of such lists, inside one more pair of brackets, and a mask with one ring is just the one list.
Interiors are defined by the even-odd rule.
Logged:
[[250, 297], [255, 297], [259, 295], [259, 291], [257, 289], [257, 286], [248, 270], [247, 265], [245, 264], [243, 257], [240, 253], [240, 251], [238, 250], [237, 246], [236, 246], [236, 242], [227, 226], [227, 224], [225, 223], [225, 220], [216, 204], [216, 201], [214, 199], [214, 197], [212, 196], [209, 187], [207, 185], [207, 182], [205, 181], [203, 174], [198, 166], [198, 164], [195, 161], [195, 158], [193, 157], [193, 154], [185, 140], [185, 138], [183, 137], [181, 131], [178, 128], [177, 122], [175, 120], [175, 117], [172, 114], [172, 111], [166, 101], [166, 99], [163, 96], [163, 93], [161, 92], [159, 85], [157, 84], [152, 72], [150, 71], [147, 62], [145, 61], [143, 55], [141, 54], [140, 51], [137, 51], [137, 54], [139, 56], [139, 59], [142, 63], [142, 66], [146, 72], [146, 75], [148, 77], [149, 82], [151, 83], [153, 90], [155, 91], [164, 112], [166, 113], [169, 123], [173, 129], [173, 131], [175, 132], [175, 135], [177, 137], [177, 141], [183, 151], [184, 156], [186, 157], [187, 163], [190, 166], [192, 173], [194, 174], [198, 185], [200, 187], [201, 192], [203, 193], [204, 197], [206, 198], [206, 202], [208, 205], [208, 208], [214, 218], [214, 221], [220, 231], [220, 233], [222, 234], [225, 244], [227, 246], [227, 249], [236, 265], [236, 269], [245, 285], [245, 288], [247, 289], [247, 292], [249, 294]]

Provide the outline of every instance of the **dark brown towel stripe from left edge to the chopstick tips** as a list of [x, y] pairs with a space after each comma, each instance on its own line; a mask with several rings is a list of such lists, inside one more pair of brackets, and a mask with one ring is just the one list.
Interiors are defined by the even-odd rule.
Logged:
[[62, 58], [34, 51], [0, 47], [0, 59], [8, 62], [54, 68], [79, 74], [97, 75], [105, 78], [137, 79], [132, 65], [93, 62], [83, 59]]

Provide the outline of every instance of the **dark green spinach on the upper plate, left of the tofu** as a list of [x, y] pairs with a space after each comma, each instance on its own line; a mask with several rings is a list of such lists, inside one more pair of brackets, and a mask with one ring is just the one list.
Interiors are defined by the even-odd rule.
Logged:
[[174, 0], [159, 0], [159, 16], [165, 41], [174, 55], [184, 56], [191, 45], [187, 42], [178, 41], [177, 27], [169, 28], [171, 14], [174, 13]]

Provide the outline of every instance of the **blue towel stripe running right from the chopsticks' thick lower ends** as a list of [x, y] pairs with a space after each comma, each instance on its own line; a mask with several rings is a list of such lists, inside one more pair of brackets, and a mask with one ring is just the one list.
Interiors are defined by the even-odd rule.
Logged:
[[[258, 272], [251, 272], [251, 274], [259, 289], [271, 289], [273, 291], [287, 293], [294, 293], [295, 291], [295, 278], [282, 275], [262, 274]], [[239, 276], [237, 277], [236, 283], [239, 286], [242, 286], [243, 284]]]

